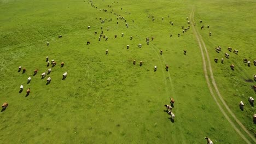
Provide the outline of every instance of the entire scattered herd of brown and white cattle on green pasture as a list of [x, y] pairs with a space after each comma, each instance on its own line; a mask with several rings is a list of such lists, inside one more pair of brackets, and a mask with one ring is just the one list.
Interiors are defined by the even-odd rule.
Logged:
[[[84, 1], [85, 2], [85, 1]], [[114, 2], [114, 3], [116, 3], [116, 2]], [[117, 2], [118, 3], [118, 2]], [[92, 0], [89, 0], [88, 1], [88, 4], [91, 4], [91, 7], [92, 8], [96, 8], [97, 9], [97, 7], [93, 4], [93, 2], [92, 2]], [[108, 8], [112, 8], [112, 5], [107, 5], [108, 6]], [[121, 10], [123, 10], [123, 8], [121, 8]], [[100, 9], [100, 11], [103, 11], [103, 12], [108, 12], [108, 10], [107, 9]], [[124, 22], [125, 22], [125, 27], [126, 28], [129, 28], [129, 23], [127, 23], [127, 20], [125, 19], [125, 17], [122, 17], [120, 14], [117, 14], [117, 13], [114, 13], [114, 9], [112, 9], [112, 10], [109, 10], [109, 12], [111, 13], [111, 14], [114, 14], [115, 16], [117, 16], [117, 18], [116, 18], [116, 20], [123, 20]], [[127, 13], [127, 11], [125, 11], [125, 13]], [[131, 13], [129, 13], [129, 15], [131, 15]], [[168, 15], [168, 17], [170, 17], [169, 15]], [[152, 19], [152, 21], [155, 21], [155, 19], [156, 19], [156, 17], [154, 17], [154, 16], [149, 16], [148, 15], [148, 19]], [[99, 20], [99, 22], [101, 22], [101, 23], [105, 23], [106, 21], [108, 21], [108, 22], [110, 22], [110, 21], [112, 21], [112, 18], [110, 18], [110, 19], [103, 19], [102, 17], [96, 17], [96, 20]], [[164, 17], [161, 17], [161, 20], [164, 20]], [[135, 22], [135, 20], [132, 20], [132, 23], [134, 23]], [[188, 21], [188, 17], [187, 17], [187, 23], [188, 23], [188, 25], [190, 24], [190, 21]], [[202, 23], [202, 20], [200, 20], [200, 22], [199, 23]], [[120, 25], [119, 24], [119, 22], [117, 21], [117, 25]], [[170, 21], [170, 25], [171, 26], [173, 26], [174, 25], [174, 22], [173, 21]], [[196, 25], [196, 23], [194, 23], [194, 26]], [[90, 30], [92, 27], [91, 26], [88, 26], [87, 27], [87, 29], [88, 30]], [[182, 34], [184, 34], [185, 32], [187, 32], [187, 31], [189, 31], [189, 29], [190, 29], [190, 26], [188, 26], [188, 27], [184, 27], [184, 26], [181, 26], [181, 28], [182, 28]], [[202, 25], [201, 26], [201, 29], [203, 29], [204, 28], [204, 26]], [[207, 28], [210, 28], [210, 26], [209, 25], [207, 25]], [[100, 27], [100, 36], [98, 37], [98, 41], [101, 41], [102, 39], [104, 39], [105, 41], [107, 41], [108, 40], [108, 37], [105, 35], [105, 34], [103, 34], [104, 32], [103, 32], [103, 27], [101, 26]], [[107, 27], [106, 28], [106, 30], [107, 31], [109, 31], [109, 28]], [[94, 34], [96, 35], [98, 32], [97, 31], [94, 31]], [[209, 35], [211, 36], [211, 32], [209, 33]], [[178, 33], [177, 34], [177, 37], [180, 37], [181, 36], [181, 34], [180, 33]], [[58, 36], [59, 38], [62, 38], [62, 35], [59, 35]], [[125, 34], [124, 33], [121, 33], [121, 37], [125, 37]], [[114, 35], [114, 39], [117, 39], [118, 38], [118, 35]], [[129, 37], [130, 38], [130, 40], [132, 40], [133, 39], [133, 37], [132, 36], [130, 36]], [[170, 34], [170, 38], [172, 38], [172, 33]], [[154, 37], [151, 37], [151, 41], [153, 41], [154, 40]], [[90, 43], [90, 41], [87, 41], [86, 42], [86, 44], [87, 45], [90, 45], [91, 43]], [[147, 45], [149, 45], [149, 38], [147, 37], [146, 38], [146, 44]], [[46, 43], [46, 45], [47, 46], [49, 46], [50, 45], [50, 43], [49, 42], [47, 42]], [[142, 44], [141, 43], [139, 43], [138, 44], [138, 47], [139, 48], [142, 48]], [[129, 49], [130, 48], [130, 46], [129, 45], [126, 45], [126, 49]], [[216, 47], [215, 48], [216, 49], [216, 52], [218, 52], [218, 53], [220, 53], [220, 52], [222, 52], [222, 47], [221, 46], [218, 46], [218, 47]], [[228, 51], [229, 52], [232, 52], [232, 48], [231, 47], [228, 47]], [[238, 55], [238, 50], [234, 50], [232, 53], [235, 53], [236, 55]], [[187, 55], [187, 50], [183, 50], [183, 54], [184, 55]], [[106, 55], [108, 55], [108, 49], [106, 50]], [[162, 50], [160, 50], [160, 55], [162, 55]], [[229, 53], [224, 53], [224, 57], [225, 58], [227, 58], [227, 59], [229, 59]], [[49, 67], [49, 65], [50, 65], [50, 62], [49, 62], [49, 57], [46, 57], [46, 62], [47, 62], [47, 67]], [[218, 63], [218, 58], [216, 57], [216, 58], [214, 58], [214, 62], [216, 62], [216, 63]], [[224, 63], [224, 58], [221, 58], [221, 63]], [[248, 65], [248, 67], [250, 67], [251, 66], [251, 62], [250, 61], [248, 61], [248, 59], [243, 59], [243, 63], [246, 63], [247, 65]], [[254, 60], [253, 61], [253, 63], [254, 63], [254, 65], [256, 66], [256, 60]], [[63, 67], [64, 66], [64, 62], [62, 62], [61, 63], [61, 67]], [[133, 60], [133, 64], [135, 65], [136, 64], [136, 61], [135, 61], [135, 59]], [[46, 85], [49, 85], [50, 84], [50, 82], [51, 82], [51, 77], [49, 76], [50, 75], [50, 73], [51, 73], [51, 69], [53, 69], [54, 68], [54, 66], [56, 65], [56, 61], [53, 59], [53, 60], [51, 60], [51, 65], [52, 65], [52, 67], [51, 68], [49, 68], [48, 70], [45, 70], [45, 71], [43, 71], [43, 73], [40, 75], [41, 76], [41, 79], [44, 79], [44, 77], [46, 77], [46, 76], [48, 76], [48, 78], [46, 79]], [[140, 61], [139, 62], [139, 65], [140, 66], [142, 66], [142, 61]], [[156, 71], [157, 70], [157, 66], [155, 65], [154, 66], [154, 71]], [[168, 68], [169, 68], [169, 66], [167, 65], [167, 64], [165, 64], [165, 69], [166, 69], [166, 71], [168, 71]], [[235, 65], [234, 64], [231, 64], [230, 65], [230, 68], [232, 69], [232, 70], [234, 70], [235, 69]], [[19, 68], [18, 68], [19, 70], [19, 72], [21, 71], [21, 69], [22, 69], [22, 67], [21, 66], [19, 66]], [[38, 73], [38, 69], [35, 69], [34, 71], [34, 74], [33, 74], [33, 76], [34, 75], [36, 75], [37, 73]], [[22, 69], [22, 73], [26, 73], [26, 69], [25, 68], [23, 68]], [[63, 73], [63, 75], [62, 75], [62, 80], [64, 80], [65, 78], [67, 77], [67, 72], [65, 72], [65, 73]], [[256, 75], [254, 75], [254, 80], [256, 81]], [[30, 77], [28, 77], [28, 79], [27, 79], [27, 84], [28, 83], [30, 83], [31, 82], [31, 76]], [[20, 86], [20, 93], [23, 91], [23, 88], [24, 88], [24, 85], [22, 84], [21, 86]], [[256, 91], [256, 86], [253, 86], [253, 88], [254, 88], [254, 91]], [[27, 90], [26, 90], [26, 96], [28, 96], [29, 94], [30, 94], [30, 91], [31, 91], [31, 89], [30, 88], [27, 88]], [[253, 103], [254, 103], [254, 99], [252, 98], [252, 97], [249, 97], [248, 98], [248, 100], [249, 100], [249, 103], [253, 106]], [[243, 102], [242, 101], [240, 101], [240, 109], [241, 110], [243, 110], [244, 109], [244, 104], [243, 104]], [[6, 108], [7, 108], [7, 106], [8, 106], [8, 103], [4, 103], [3, 105], [2, 105], [2, 110], [5, 110]], [[171, 119], [171, 121], [172, 122], [174, 122], [174, 113], [173, 113], [173, 107], [174, 107], [174, 99], [173, 98], [171, 98], [170, 99], [170, 105], [164, 105], [165, 107], [166, 107], [166, 112], [168, 113], [168, 115], [170, 115], [170, 119]], [[256, 122], [256, 114], [254, 114], [253, 115], [253, 119], [254, 119], [254, 121]], [[212, 143], [212, 141], [208, 138], [208, 137], [205, 137], [205, 139], [207, 140], [207, 142], [208, 143]]]

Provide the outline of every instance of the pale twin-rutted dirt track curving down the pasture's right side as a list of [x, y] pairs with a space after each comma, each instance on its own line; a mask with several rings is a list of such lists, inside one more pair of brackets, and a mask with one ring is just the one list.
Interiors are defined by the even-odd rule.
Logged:
[[[193, 7], [192, 9], [192, 12], [190, 14], [190, 19], [191, 19], [191, 22], [192, 23], [195, 23], [194, 21], [194, 13], [195, 13], [195, 7]], [[232, 127], [236, 130], [236, 132], [242, 137], [243, 140], [245, 140], [247, 143], [251, 143], [242, 133], [240, 130], [237, 129], [236, 125], [231, 121], [231, 119], [229, 118], [229, 116], [226, 114], [226, 112], [224, 111], [224, 109], [222, 108], [222, 106], [220, 106], [216, 96], [214, 95], [213, 93], [213, 88], [211, 87], [211, 83], [210, 83], [210, 79], [208, 77], [208, 72], [207, 72], [207, 68], [206, 68], [206, 59], [205, 59], [205, 53], [206, 53], [206, 56], [207, 56], [207, 61], [208, 61], [208, 68], [210, 70], [210, 75], [211, 75], [211, 80], [212, 80], [212, 84], [214, 86], [214, 89], [215, 91], [217, 92], [220, 100], [222, 101], [222, 104], [226, 107], [226, 109], [228, 110], [228, 112], [230, 113], [230, 115], [235, 119], [235, 121], [240, 125], [240, 127], [245, 130], [245, 132], [248, 134], [249, 137], [252, 138], [252, 140], [254, 142], [255, 139], [254, 137], [249, 133], [249, 131], [245, 128], [244, 125], [242, 125], [242, 123], [240, 121], [238, 121], [238, 119], [235, 117], [234, 113], [232, 113], [228, 107], [228, 105], [226, 105], [225, 101], [223, 100], [222, 98], [222, 95], [220, 95], [219, 91], [218, 91], [218, 88], [217, 88], [217, 85], [216, 85], [216, 82], [214, 80], [214, 77], [213, 77], [213, 73], [212, 73], [212, 68], [211, 68], [211, 62], [210, 62], [210, 58], [209, 58], [209, 55], [208, 55], [208, 52], [207, 52], [207, 49], [206, 49], [206, 46], [205, 46], [205, 43], [203, 42], [202, 38], [201, 38], [201, 35], [197, 32], [197, 29], [195, 28], [194, 25], [192, 25], [193, 27], [193, 33], [196, 37], [196, 40], [199, 44], [199, 47], [200, 47], [200, 50], [201, 50], [201, 55], [202, 55], [202, 61], [203, 61], [203, 72], [205, 73], [205, 78], [206, 78], [206, 82], [207, 82], [207, 86], [210, 90], [210, 93], [214, 99], [214, 101], [216, 102], [216, 104], [218, 105], [220, 111], [223, 113], [223, 115], [225, 116], [225, 118], [228, 120], [228, 122], [232, 125]], [[202, 44], [203, 44], [203, 47], [205, 49], [205, 53], [203, 52], [203, 49], [202, 49]]]

